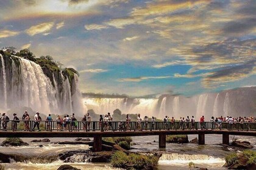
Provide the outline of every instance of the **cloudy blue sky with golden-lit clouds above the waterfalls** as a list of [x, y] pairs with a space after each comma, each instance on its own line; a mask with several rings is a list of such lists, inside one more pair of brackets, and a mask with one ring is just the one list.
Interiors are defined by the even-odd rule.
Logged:
[[1, 0], [0, 47], [79, 71], [82, 92], [196, 95], [256, 85], [256, 1]]

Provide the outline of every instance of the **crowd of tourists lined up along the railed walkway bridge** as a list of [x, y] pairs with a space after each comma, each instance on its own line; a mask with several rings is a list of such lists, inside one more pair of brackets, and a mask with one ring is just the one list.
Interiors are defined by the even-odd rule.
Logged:
[[[0, 114], [1, 115], [1, 114]], [[24, 124], [24, 130], [23, 131], [30, 131], [30, 128], [32, 131], [35, 131], [35, 128], [37, 127], [37, 131], [40, 131], [40, 122], [42, 121], [42, 118], [40, 117], [40, 113], [37, 112], [34, 115], [33, 124], [30, 124], [30, 116], [27, 113], [27, 110], [24, 112], [22, 116], [22, 121]], [[3, 113], [2, 117], [0, 118], [0, 121], [2, 121], [2, 130], [7, 131], [7, 123], [10, 121], [10, 118]], [[52, 117], [51, 114], [49, 114], [46, 119], [46, 131], [51, 131], [52, 130]], [[111, 130], [113, 131], [113, 117], [108, 112], [105, 114], [105, 117], [103, 115], [99, 115], [99, 127], [103, 131], [108, 131]], [[148, 116], [144, 116], [144, 118], [141, 117], [140, 114], [137, 115], [137, 123], [135, 129], [143, 129], [143, 130], [154, 130], [155, 127], [155, 122], [159, 121], [156, 120], [155, 117], [149, 118]], [[82, 127], [84, 131], [90, 131], [91, 129], [91, 116], [89, 113], [85, 114], [82, 120]], [[256, 122], [256, 118], [254, 117], [211, 117], [210, 121], [208, 121], [209, 124], [205, 124], [205, 117], [202, 115], [202, 117], [199, 119], [199, 124], [201, 129], [222, 129], [222, 123], [228, 124], [229, 129], [233, 129], [233, 127], [238, 126], [241, 127], [241, 129], [250, 129], [249, 126], [247, 126], [248, 123], [253, 123]], [[20, 119], [17, 117], [17, 114], [13, 114], [13, 121], [12, 121], [12, 130], [17, 131], [17, 125], [20, 123]], [[69, 131], [71, 128], [72, 131], [78, 131], [79, 130], [79, 121], [75, 117], [75, 114], [73, 113], [70, 117], [69, 115], [65, 115], [63, 118], [61, 115], [57, 115], [56, 118], [56, 123], [57, 123], [57, 131]], [[196, 120], [194, 119], [194, 116], [190, 118], [190, 116], [187, 116], [187, 118], [180, 117], [179, 120], [176, 120], [174, 117], [169, 118], [167, 115], [165, 118], [163, 118], [163, 129], [198, 129], [199, 125], [196, 124]], [[149, 127], [150, 124], [150, 127]], [[238, 125], [237, 125], [238, 124]], [[208, 125], [208, 126], [207, 126]], [[134, 128], [134, 127], [133, 127]], [[132, 130], [131, 127], [131, 118], [129, 114], [126, 115], [126, 121], [119, 121], [118, 124], [118, 129], [119, 131], [127, 131], [127, 130]]]

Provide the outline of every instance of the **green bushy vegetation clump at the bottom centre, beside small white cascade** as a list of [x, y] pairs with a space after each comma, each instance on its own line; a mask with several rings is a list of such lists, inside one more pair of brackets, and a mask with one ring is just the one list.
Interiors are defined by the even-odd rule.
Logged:
[[154, 155], [142, 155], [130, 153], [126, 154], [122, 151], [117, 151], [111, 158], [111, 163], [117, 168], [126, 169], [146, 169], [154, 168], [157, 165], [158, 158]]

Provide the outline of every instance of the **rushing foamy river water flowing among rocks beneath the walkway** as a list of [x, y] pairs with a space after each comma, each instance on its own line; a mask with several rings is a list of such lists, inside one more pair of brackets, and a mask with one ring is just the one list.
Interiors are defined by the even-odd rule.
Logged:
[[[197, 137], [197, 135], [188, 135], [189, 140]], [[255, 137], [241, 137], [230, 135], [232, 138], [238, 138], [239, 140], [250, 141], [254, 147], [256, 147]], [[49, 143], [30, 143], [29, 141], [34, 138], [23, 138], [24, 141], [29, 143], [29, 146], [20, 147], [0, 147], [0, 152], [5, 154], [23, 154], [26, 157], [34, 157], [27, 163], [10, 163], [4, 164], [7, 169], [57, 169], [60, 165], [68, 164], [80, 169], [116, 169], [113, 168], [110, 163], [83, 163], [79, 162], [79, 158], [75, 158], [75, 163], [63, 163], [63, 161], [56, 160], [52, 163], [47, 163], [44, 157], [49, 157], [54, 154], [59, 154], [65, 151], [74, 151], [80, 149], [88, 149], [89, 146], [84, 144], [77, 145], [60, 145]], [[51, 141], [74, 141], [74, 138], [49, 138]], [[161, 152], [162, 157], [158, 161], [158, 169], [188, 169], [188, 163], [192, 161], [195, 166], [204, 167], [208, 169], [225, 169], [224, 157], [233, 151], [232, 147], [223, 149], [219, 143], [222, 141], [222, 135], [205, 135], [205, 145], [198, 145], [193, 143], [177, 144], [167, 143], [165, 149], [158, 149], [158, 137], [132, 137], [133, 143], [132, 152]], [[1, 138], [1, 141], [4, 138]], [[43, 144], [40, 148], [39, 145]]]

